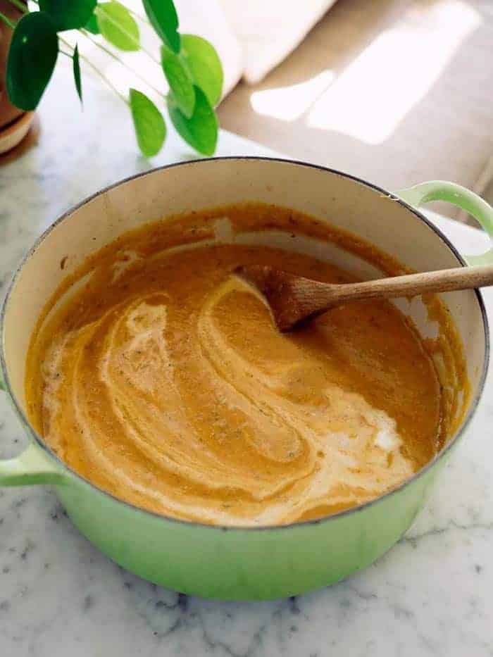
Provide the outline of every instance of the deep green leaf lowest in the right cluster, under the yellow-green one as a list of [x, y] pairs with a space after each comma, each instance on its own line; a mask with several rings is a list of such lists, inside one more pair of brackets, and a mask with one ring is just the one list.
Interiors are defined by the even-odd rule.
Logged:
[[203, 155], [213, 155], [218, 142], [218, 118], [202, 89], [196, 85], [194, 89], [195, 107], [190, 118], [180, 111], [173, 93], [168, 94], [170, 119], [185, 142]]

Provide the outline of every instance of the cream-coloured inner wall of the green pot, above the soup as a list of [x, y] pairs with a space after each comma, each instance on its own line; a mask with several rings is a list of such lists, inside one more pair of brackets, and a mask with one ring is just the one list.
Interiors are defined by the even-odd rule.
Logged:
[[[451, 246], [414, 211], [395, 197], [339, 173], [258, 158], [196, 161], [154, 170], [101, 192], [65, 215], [27, 256], [8, 298], [4, 318], [6, 370], [20, 407], [25, 405], [25, 357], [32, 330], [46, 300], [68, 273], [89, 254], [139, 225], [176, 213], [240, 201], [263, 201], [315, 215], [354, 232], [414, 270], [461, 265]], [[234, 239], [227, 223], [217, 231], [216, 239]], [[380, 275], [356, 256], [311, 239], [293, 241], [274, 232], [239, 239], [316, 255], [362, 278]], [[461, 335], [474, 399], [480, 389], [486, 356], [480, 300], [474, 291], [442, 296]], [[413, 315], [424, 336], [436, 332], [420, 301], [397, 303]]]

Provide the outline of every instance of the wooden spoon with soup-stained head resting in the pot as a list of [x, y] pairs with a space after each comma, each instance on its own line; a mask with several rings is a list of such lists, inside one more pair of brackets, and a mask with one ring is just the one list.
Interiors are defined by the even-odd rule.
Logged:
[[457, 267], [340, 284], [310, 280], [270, 265], [239, 267], [235, 274], [253, 284], [266, 297], [281, 332], [289, 331], [300, 322], [325, 313], [334, 306], [356, 299], [392, 299], [493, 285], [493, 265]]

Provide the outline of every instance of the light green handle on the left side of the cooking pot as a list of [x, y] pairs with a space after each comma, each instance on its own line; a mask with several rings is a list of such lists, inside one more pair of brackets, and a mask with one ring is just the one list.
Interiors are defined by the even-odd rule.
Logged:
[[[0, 390], [5, 390], [1, 373]], [[34, 442], [19, 456], [0, 459], [0, 486], [61, 484], [64, 480], [65, 475], [59, 466]]]

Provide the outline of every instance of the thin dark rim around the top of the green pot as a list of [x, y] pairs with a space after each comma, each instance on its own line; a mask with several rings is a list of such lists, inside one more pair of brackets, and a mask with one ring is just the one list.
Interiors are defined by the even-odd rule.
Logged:
[[70, 475], [73, 475], [77, 480], [80, 480], [82, 483], [89, 485], [93, 489], [95, 489], [97, 492], [104, 494], [108, 498], [112, 499], [113, 501], [116, 501], [120, 504], [123, 504], [130, 508], [132, 511], [137, 511], [140, 513], [144, 513], [146, 515], [149, 515], [154, 518], [160, 518], [161, 520], [166, 520], [167, 522], [171, 523], [177, 523], [179, 525], [185, 525], [186, 527], [202, 527], [204, 529], [208, 530], [219, 530], [223, 532], [263, 532], [266, 530], [289, 530], [289, 529], [296, 529], [301, 527], [306, 527], [307, 525], [320, 525], [321, 523], [327, 523], [330, 522], [330, 520], [338, 520], [339, 518], [342, 518], [344, 516], [349, 516], [354, 513], [361, 513], [361, 511], [365, 511], [367, 508], [370, 506], [374, 506], [377, 503], [380, 503], [384, 501], [385, 499], [389, 499], [390, 497], [396, 495], [397, 493], [401, 492], [404, 488], [406, 488], [409, 484], [412, 482], [418, 480], [418, 478], [422, 477], [425, 475], [425, 473], [428, 472], [440, 459], [442, 459], [458, 442], [458, 439], [462, 437], [463, 433], [465, 432], [466, 428], [468, 427], [470, 420], [473, 418], [473, 415], [476, 411], [476, 408], [478, 408], [478, 403], [481, 399], [482, 392], [485, 388], [485, 380], [486, 380], [486, 375], [487, 375], [487, 370], [488, 370], [488, 365], [489, 365], [489, 325], [488, 325], [488, 319], [487, 319], [487, 313], [486, 313], [486, 308], [485, 308], [485, 303], [482, 299], [482, 294], [479, 289], [475, 289], [475, 295], [476, 299], [478, 300], [478, 304], [480, 306], [480, 311], [481, 311], [481, 316], [482, 316], [482, 325], [483, 325], [483, 330], [485, 334], [485, 358], [483, 361], [482, 365], [482, 373], [480, 377], [480, 381], [478, 384], [478, 390], [474, 396], [474, 399], [470, 403], [470, 407], [468, 409], [468, 412], [466, 414], [466, 417], [463, 419], [463, 422], [461, 424], [461, 427], [459, 427], [458, 431], [456, 432], [455, 436], [448, 442], [444, 448], [439, 451], [439, 453], [435, 454], [435, 456], [428, 461], [425, 465], [423, 465], [423, 468], [420, 468], [416, 473], [412, 475], [412, 477], [409, 477], [408, 479], [404, 480], [404, 482], [401, 482], [399, 486], [394, 487], [387, 491], [386, 493], [375, 497], [375, 499], [372, 499], [370, 501], [367, 501], [362, 504], [358, 504], [357, 506], [351, 506], [350, 508], [344, 509], [344, 511], [339, 511], [338, 513], [332, 513], [331, 515], [323, 515], [320, 518], [313, 518], [311, 520], [303, 520], [298, 523], [289, 523], [288, 525], [261, 525], [260, 527], [251, 527], [250, 525], [245, 526], [245, 525], [210, 525], [208, 523], [199, 523], [196, 520], [185, 520], [184, 518], [173, 518], [173, 516], [170, 515], [164, 515], [163, 513], [158, 513], [156, 511], [149, 511], [149, 509], [142, 508], [140, 506], [135, 506], [134, 504], [127, 502], [116, 495], [113, 495], [109, 493], [108, 491], [99, 488], [96, 486], [96, 484], [93, 484], [91, 481], [85, 479], [85, 477], [82, 477], [82, 475], [79, 475], [73, 468], [70, 468], [68, 463], [65, 463], [47, 444], [44, 442], [42, 437], [40, 437], [35, 429], [32, 427], [30, 421], [27, 418], [27, 415], [25, 415], [23, 408], [20, 407], [20, 404], [18, 403], [15, 395], [12, 392], [11, 389], [11, 384], [10, 380], [8, 377], [8, 372], [7, 372], [7, 367], [6, 367], [6, 361], [5, 361], [5, 349], [4, 349], [4, 342], [5, 342], [5, 318], [6, 318], [6, 313], [8, 310], [8, 301], [11, 298], [11, 295], [13, 293], [13, 289], [15, 287], [15, 283], [18, 280], [18, 277], [20, 275], [21, 270], [23, 269], [25, 263], [35, 254], [37, 251], [37, 248], [42, 242], [44, 242], [44, 239], [49, 236], [52, 230], [54, 230], [60, 223], [62, 223], [64, 220], [68, 219], [75, 211], [77, 211], [79, 208], [84, 206], [85, 204], [89, 203], [89, 201], [92, 201], [95, 199], [97, 196], [101, 196], [102, 194], [106, 194], [106, 192], [110, 191], [114, 187], [119, 187], [121, 184], [125, 184], [127, 182], [132, 182], [132, 180], [136, 180], [137, 178], [144, 177], [146, 175], [152, 175], [156, 173], [156, 171], [163, 171], [166, 169], [170, 168], [175, 168], [175, 167], [186, 167], [189, 165], [197, 165], [204, 163], [208, 165], [209, 163], [213, 163], [214, 161], [275, 161], [277, 163], [282, 163], [282, 164], [287, 164], [287, 165], [292, 165], [294, 167], [305, 167], [305, 168], [312, 168], [316, 169], [319, 171], [324, 171], [325, 173], [332, 173], [344, 178], [349, 178], [349, 180], [354, 180], [355, 182], [358, 182], [360, 184], [365, 185], [366, 187], [369, 187], [370, 189], [375, 190], [376, 192], [380, 192], [380, 194], [383, 194], [384, 196], [387, 196], [389, 199], [392, 199], [392, 201], [395, 201], [399, 203], [401, 206], [404, 206], [408, 211], [413, 213], [413, 215], [420, 220], [422, 223], [425, 223], [430, 230], [435, 232], [436, 236], [441, 239], [442, 242], [449, 248], [449, 250], [454, 254], [456, 257], [458, 263], [461, 264], [463, 267], [467, 267], [468, 264], [464, 260], [464, 258], [461, 256], [461, 254], [458, 252], [454, 244], [452, 244], [449, 240], [448, 237], [446, 237], [437, 226], [435, 226], [429, 219], [423, 215], [423, 213], [420, 213], [420, 211], [411, 206], [410, 204], [406, 203], [406, 201], [403, 201], [402, 199], [399, 198], [399, 196], [396, 196], [396, 194], [392, 194], [392, 192], [388, 192], [386, 189], [383, 189], [382, 187], [379, 187], [376, 184], [373, 184], [371, 182], [368, 182], [367, 180], [363, 180], [363, 178], [360, 178], [355, 175], [351, 175], [350, 173], [344, 173], [343, 171], [339, 171], [337, 169], [333, 169], [330, 167], [325, 167], [322, 165], [317, 165], [317, 164], [312, 164], [300, 160], [292, 160], [289, 158], [278, 158], [278, 157], [265, 157], [265, 156], [221, 156], [221, 157], [216, 157], [216, 158], [196, 158], [194, 160], [187, 160], [186, 162], [176, 162], [172, 164], [167, 164], [163, 165], [161, 167], [156, 167], [153, 169], [150, 169], [148, 171], [144, 171], [142, 173], [137, 173], [135, 175], [130, 175], [126, 178], [123, 178], [122, 180], [118, 180], [117, 182], [113, 182], [112, 184], [107, 185], [103, 189], [100, 189], [99, 192], [95, 192], [91, 196], [87, 196], [86, 199], [80, 201], [80, 203], [75, 204], [75, 206], [72, 206], [69, 208], [67, 211], [65, 211], [62, 215], [58, 217], [52, 223], [49, 225], [49, 227], [36, 239], [35, 243], [32, 245], [32, 247], [27, 251], [27, 253], [21, 258], [20, 263], [18, 264], [17, 268], [15, 269], [15, 272], [13, 273], [13, 276], [11, 277], [11, 281], [8, 284], [8, 288], [4, 297], [4, 301], [1, 306], [1, 311], [0, 311], [0, 371], [1, 374], [4, 377], [4, 383], [6, 387], [6, 392], [8, 393], [8, 396], [10, 396], [11, 401], [13, 403], [13, 406], [15, 408], [15, 411], [17, 412], [21, 422], [27, 427], [29, 430], [31, 436], [35, 439], [39, 447], [43, 449], [46, 453], [51, 456], [51, 458], [54, 458], [54, 460], [63, 467], [64, 470], [68, 470]]

